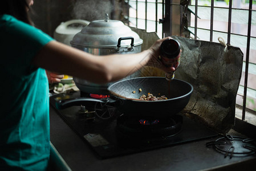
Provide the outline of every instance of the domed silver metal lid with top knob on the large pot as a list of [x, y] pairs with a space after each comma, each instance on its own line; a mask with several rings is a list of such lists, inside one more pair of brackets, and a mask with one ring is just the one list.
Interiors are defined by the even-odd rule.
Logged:
[[120, 42], [121, 47], [131, 46], [132, 40], [134, 39], [134, 46], [143, 43], [140, 36], [131, 30], [128, 26], [125, 26], [123, 22], [111, 20], [106, 17], [104, 20], [97, 20], [90, 22], [89, 25], [84, 27], [80, 32], [78, 32], [70, 42], [71, 45], [82, 46], [82, 47], [116, 47], [118, 40], [122, 39]]

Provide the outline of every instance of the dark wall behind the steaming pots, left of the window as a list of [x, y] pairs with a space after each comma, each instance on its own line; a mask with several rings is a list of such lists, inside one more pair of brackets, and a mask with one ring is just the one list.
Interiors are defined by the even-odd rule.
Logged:
[[[114, 1], [114, 0], [113, 0]], [[70, 19], [94, 21], [104, 19], [105, 13], [113, 13], [109, 0], [36, 0], [32, 9], [35, 26], [53, 36], [54, 30], [61, 22]]]

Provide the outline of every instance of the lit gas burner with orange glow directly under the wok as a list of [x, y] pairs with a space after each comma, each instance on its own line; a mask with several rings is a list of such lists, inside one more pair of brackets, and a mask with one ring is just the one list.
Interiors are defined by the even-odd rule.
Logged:
[[169, 137], [181, 131], [182, 116], [173, 115], [161, 119], [140, 119], [125, 114], [117, 118], [117, 131], [129, 137]]

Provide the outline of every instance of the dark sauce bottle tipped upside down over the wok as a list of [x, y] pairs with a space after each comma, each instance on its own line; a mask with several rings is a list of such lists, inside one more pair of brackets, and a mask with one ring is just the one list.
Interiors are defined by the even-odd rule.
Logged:
[[[180, 66], [180, 43], [174, 39], [164, 40], [161, 47], [161, 62], [166, 67], [174, 67], [175, 71]], [[170, 81], [174, 79], [174, 71], [165, 73], [166, 80]]]

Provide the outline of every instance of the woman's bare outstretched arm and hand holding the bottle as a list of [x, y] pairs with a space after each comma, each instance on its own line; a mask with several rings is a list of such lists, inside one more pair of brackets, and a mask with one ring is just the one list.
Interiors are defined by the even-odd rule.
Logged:
[[72, 75], [94, 83], [119, 80], [149, 63], [151, 66], [155, 64], [155, 67], [165, 72], [173, 71], [174, 68], [166, 68], [157, 60], [159, 47], [163, 40], [157, 40], [151, 48], [138, 54], [104, 56], [92, 55], [51, 41], [38, 52], [32, 64], [51, 72]]

